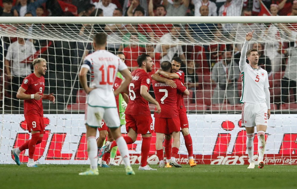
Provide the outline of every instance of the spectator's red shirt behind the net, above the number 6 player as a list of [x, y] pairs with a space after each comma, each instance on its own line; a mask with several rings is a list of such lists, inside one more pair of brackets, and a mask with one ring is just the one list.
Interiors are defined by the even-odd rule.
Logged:
[[126, 57], [125, 64], [128, 67], [138, 67], [137, 58], [139, 55], [146, 52], [146, 49], [139, 46], [136, 46], [135, 48], [128, 46], [123, 49], [123, 52]]

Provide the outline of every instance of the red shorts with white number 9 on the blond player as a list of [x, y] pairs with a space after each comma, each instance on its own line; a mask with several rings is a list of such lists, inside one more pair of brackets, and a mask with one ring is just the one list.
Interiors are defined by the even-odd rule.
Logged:
[[29, 133], [31, 133], [31, 130], [40, 131], [40, 134], [45, 133], [43, 117], [39, 115], [31, 114], [31, 115], [25, 116], [25, 120], [27, 122], [27, 128], [29, 130]]

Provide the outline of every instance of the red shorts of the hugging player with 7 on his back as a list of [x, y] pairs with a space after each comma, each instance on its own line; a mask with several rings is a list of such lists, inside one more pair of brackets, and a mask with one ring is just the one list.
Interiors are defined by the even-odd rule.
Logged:
[[180, 130], [179, 118], [155, 117], [156, 133], [171, 134], [173, 132], [179, 132]]

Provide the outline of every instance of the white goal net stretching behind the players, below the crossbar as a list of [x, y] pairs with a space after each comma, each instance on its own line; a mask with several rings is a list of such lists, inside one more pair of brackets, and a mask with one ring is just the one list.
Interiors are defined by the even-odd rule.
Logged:
[[[15, 95], [23, 78], [32, 73], [31, 62], [37, 57], [48, 61], [45, 94], [54, 93], [56, 103], [43, 100], [46, 132], [34, 159], [38, 163], [89, 163], [86, 93], [79, 85], [78, 71], [83, 58], [94, 51], [92, 36], [96, 32], [108, 34], [108, 51], [123, 52], [131, 70], [137, 67], [141, 53], [154, 60], [150, 75], [162, 61], [179, 56], [184, 84], [190, 91], [184, 104], [195, 160], [200, 164], [247, 164], [238, 62], [245, 35], [252, 30], [249, 48], [259, 52], [259, 65], [268, 72], [271, 94], [264, 160], [268, 164], [297, 163], [297, 17], [19, 17], [0, 21], [0, 164], [14, 163], [10, 150], [30, 138], [23, 101]], [[154, 96], [152, 88], [150, 94]], [[153, 116], [154, 106], [150, 108]], [[124, 126], [121, 131], [127, 134]], [[139, 136], [128, 145], [132, 163], [140, 162], [141, 143]], [[254, 143], [257, 161], [257, 137]], [[153, 134], [150, 164], [158, 162], [155, 150]], [[178, 154], [179, 163], [188, 162], [182, 135]], [[20, 154], [20, 160], [28, 161], [28, 150]], [[119, 152], [115, 160], [123, 163]]]

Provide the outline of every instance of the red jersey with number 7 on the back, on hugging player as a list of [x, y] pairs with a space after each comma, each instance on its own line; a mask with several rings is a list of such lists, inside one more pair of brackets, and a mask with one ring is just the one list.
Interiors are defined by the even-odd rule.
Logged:
[[156, 100], [161, 107], [161, 113], [154, 113], [154, 117], [162, 118], [178, 118], [177, 109], [177, 92], [183, 93], [186, 87], [181, 83], [179, 79], [173, 79], [176, 84], [176, 88], [171, 88], [168, 84], [153, 80], [153, 89], [156, 96]]

